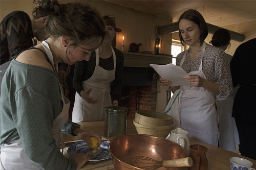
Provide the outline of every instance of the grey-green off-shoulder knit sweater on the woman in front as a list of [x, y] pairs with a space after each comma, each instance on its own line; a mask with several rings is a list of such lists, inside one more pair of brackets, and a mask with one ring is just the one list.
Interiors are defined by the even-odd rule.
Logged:
[[[42, 168], [76, 169], [76, 163], [61, 154], [52, 136], [53, 120], [62, 109], [54, 72], [12, 60], [1, 92], [0, 145], [20, 138], [26, 155]], [[72, 133], [72, 125], [68, 122], [63, 130]]]

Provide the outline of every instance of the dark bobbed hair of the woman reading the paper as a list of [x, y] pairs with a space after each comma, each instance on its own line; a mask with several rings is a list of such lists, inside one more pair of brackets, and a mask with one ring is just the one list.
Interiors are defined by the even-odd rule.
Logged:
[[[203, 16], [197, 10], [189, 9], [189, 10], [185, 11], [183, 14], [181, 14], [178, 23], [180, 23], [180, 21], [182, 19], [187, 19], [187, 20], [193, 21], [198, 25], [198, 27], [200, 29], [200, 37], [199, 37], [200, 41], [199, 42], [202, 45], [202, 43], [204, 42], [205, 38], [208, 35], [208, 27], [206, 25], [206, 22], [205, 22]], [[182, 38], [180, 31], [179, 31], [179, 36], [180, 36], [180, 42], [184, 46], [186, 44], [186, 42]]]

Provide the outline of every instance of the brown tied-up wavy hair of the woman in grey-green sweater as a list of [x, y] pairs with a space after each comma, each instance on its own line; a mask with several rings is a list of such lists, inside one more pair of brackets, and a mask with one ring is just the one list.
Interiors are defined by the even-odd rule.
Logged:
[[63, 36], [72, 46], [89, 44], [88, 39], [105, 34], [105, 24], [99, 12], [88, 4], [59, 4], [56, 0], [33, 0], [38, 6], [32, 11], [33, 18], [46, 16], [48, 37]]

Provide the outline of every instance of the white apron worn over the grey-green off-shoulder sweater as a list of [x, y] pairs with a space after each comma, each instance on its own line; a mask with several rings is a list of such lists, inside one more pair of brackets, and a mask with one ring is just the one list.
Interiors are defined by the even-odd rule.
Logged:
[[[42, 45], [44, 46], [46, 53], [51, 61], [51, 64], [54, 67], [53, 63], [53, 57], [52, 53], [50, 51], [50, 48], [47, 44], [47, 42], [42, 41]], [[55, 74], [56, 71], [54, 70]], [[56, 75], [57, 76], [57, 75]], [[61, 85], [59, 85], [61, 89]], [[69, 105], [70, 102], [69, 100], [63, 95], [63, 91], [61, 89], [61, 100], [63, 101], [63, 108], [61, 113], [58, 115], [58, 117], [54, 120], [53, 122], [53, 127], [52, 127], [52, 134], [53, 137], [56, 140], [56, 143], [58, 147], [62, 149], [63, 152], [63, 147], [64, 141], [63, 141], [63, 136], [61, 132], [61, 127], [63, 124], [65, 124], [68, 121], [68, 110], [69, 110]], [[20, 139], [15, 140], [10, 143], [5, 143], [2, 145], [1, 148], [1, 154], [0, 154], [0, 169], [1, 170], [37, 170], [37, 169], [42, 169], [39, 167], [35, 162], [33, 162], [24, 152], [23, 149], [23, 144]]]

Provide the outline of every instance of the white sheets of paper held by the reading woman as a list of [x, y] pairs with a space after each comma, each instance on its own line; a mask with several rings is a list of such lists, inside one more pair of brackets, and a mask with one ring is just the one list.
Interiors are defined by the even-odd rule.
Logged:
[[189, 84], [183, 78], [188, 75], [187, 72], [177, 65], [170, 63], [166, 65], [150, 64], [150, 66], [157, 71], [161, 78], [171, 81], [172, 84], [170, 84], [170, 86]]

